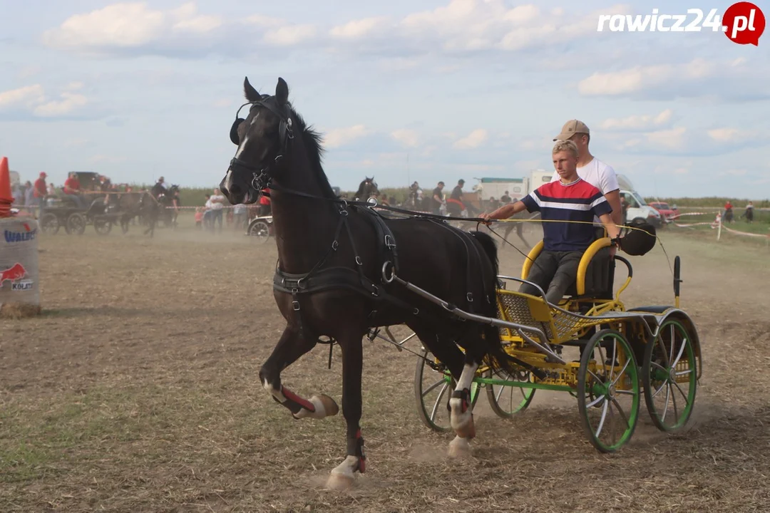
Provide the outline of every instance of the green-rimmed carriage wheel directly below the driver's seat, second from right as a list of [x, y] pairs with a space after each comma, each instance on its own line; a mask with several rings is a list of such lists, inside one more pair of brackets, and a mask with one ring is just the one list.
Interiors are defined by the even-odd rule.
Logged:
[[588, 341], [577, 375], [577, 408], [584, 431], [601, 452], [631, 439], [641, 390], [634, 350], [620, 332], [603, 329]]

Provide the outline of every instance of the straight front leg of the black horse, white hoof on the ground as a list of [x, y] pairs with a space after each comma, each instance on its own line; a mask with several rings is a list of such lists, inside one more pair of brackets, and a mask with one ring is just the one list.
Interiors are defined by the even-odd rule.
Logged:
[[326, 481], [328, 488], [346, 489], [353, 485], [356, 472], [366, 470], [366, 455], [361, 436], [361, 372], [363, 370], [363, 332], [352, 330], [337, 339], [342, 349], [342, 411], [347, 424], [347, 453]]

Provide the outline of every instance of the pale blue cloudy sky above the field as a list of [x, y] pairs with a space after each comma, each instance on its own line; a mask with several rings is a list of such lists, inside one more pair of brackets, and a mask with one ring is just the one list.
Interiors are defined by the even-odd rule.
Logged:
[[579, 118], [643, 195], [770, 197], [770, 36], [596, 31], [649, 5], [0, 0], [0, 155], [56, 184], [79, 170], [213, 186], [243, 77], [272, 93], [281, 76], [343, 189], [550, 169]]

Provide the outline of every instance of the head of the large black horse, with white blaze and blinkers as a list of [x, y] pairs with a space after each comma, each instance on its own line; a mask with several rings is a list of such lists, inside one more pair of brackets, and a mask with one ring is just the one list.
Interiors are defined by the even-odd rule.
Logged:
[[256, 202], [269, 181], [286, 172], [285, 161], [294, 138], [289, 86], [283, 78], [278, 79], [273, 96], [259, 94], [249, 78], [244, 80], [243, 90], [248, 102], [241, 108], [250, 105], [249, 114], [245, 119], [236, 114], [230, 140], [238, 149], [219, 184], [233, 205]]

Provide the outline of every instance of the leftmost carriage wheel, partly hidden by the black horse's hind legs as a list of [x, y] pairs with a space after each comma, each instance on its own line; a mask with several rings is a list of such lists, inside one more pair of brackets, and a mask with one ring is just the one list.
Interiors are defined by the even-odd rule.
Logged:
[[[433, 353], [423, 349], [417, 358], [414, 371], [414, 398], [417, 400], [417, 413], [428, 428], [440, 433], [452, 431], [449, 421], [447, 402], [456, 385], [453, 379], [447, 379], [449, 370], [441, 363], [436, 363]], [[470, 402], [475, 407], [480, 395], [480, 385], [474, 381], [470, 385]]]

